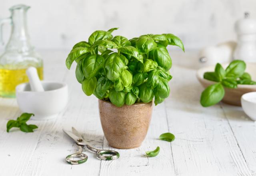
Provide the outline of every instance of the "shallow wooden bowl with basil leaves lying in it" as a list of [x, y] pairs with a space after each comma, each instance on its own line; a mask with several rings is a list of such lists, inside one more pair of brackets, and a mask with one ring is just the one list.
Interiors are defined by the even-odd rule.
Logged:
[[[224, 68], [228, 66], [228, 64], [222, 64]], [[196, 72], [196, 77], [199, 82], [204, 86], [204, 88], [214, 84], [216, 82], [209, 81], [204, 79], [204, 72], [213, 72], [215, 66], [207, 66], [204, 68], [200, 68]], [[248, 72], [252, 76], [252, 80], [256, 81], [256, 63], [246, 63], [246, 72]], [[241, 96], [248, 92], [255, 92], [256, 85], [242, 85], [238, 84], [236, 89], [231, 88], [224, 88], [225, 89], [225, 96], [222, 99], [222, 102], [226, 104], [231, 104], [235, 106], [241, 106]]]

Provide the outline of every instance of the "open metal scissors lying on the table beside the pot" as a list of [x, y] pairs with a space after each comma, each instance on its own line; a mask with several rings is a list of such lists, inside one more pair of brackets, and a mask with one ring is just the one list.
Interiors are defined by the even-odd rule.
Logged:
[[[86, 146], [91, 152], [96, 153], [97, 158], [101, 160], [115, 160], [115, 159], [118, 159], [120, 156], [119, 153], [114, 150], [101, 150], [101, 149], [97, 149], [89, 146], [88, 144], [85, 143], [82, 135], [79, 134], [74, 127], [72, 127], [72, 132], [66, 131], [64, 129], [63, 131], [76, 142], [79, 148], [78, 152], [76, 152], [75, 154], [70, 154], [66, 156], [66, 162], [68, 162], [69, 164], [82, 164], [87, 161], [88, 156], [82, 153], [84, 146]], [[74, 160], [74, 158], [82, 158], [82, 159]]]

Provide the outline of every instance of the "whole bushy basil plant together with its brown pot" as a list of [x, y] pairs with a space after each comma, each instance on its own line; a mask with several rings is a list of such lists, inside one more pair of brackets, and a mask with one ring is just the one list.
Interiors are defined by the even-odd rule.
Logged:
[[99, 99], [100, 120], [110, 146], [136, 148], [144, 140], [154, 104], [170, 94], [172, 60], [166, 49], [176, 45], [173, 34], [146, 34], [128, 40], [97, 30], [87, 41], [74, 45], [66, 59], [76, 61], [76, 79], [87, 96]]

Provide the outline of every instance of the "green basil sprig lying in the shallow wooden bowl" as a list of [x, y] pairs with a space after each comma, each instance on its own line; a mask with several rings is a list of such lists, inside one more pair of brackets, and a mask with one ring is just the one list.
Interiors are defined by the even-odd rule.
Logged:
[[233, 60], [226, 70], [218, 63], [214, 72], [205, 72], [204, 79], [217, 82], [208, 86], [201, 94], [200, 103], [204, 107], [212, 106], [222, 100], [224, 87], [237, 88], [238, 84], [256, 84], [250, 74], [244, 72], [246, 64], [242, 60]]

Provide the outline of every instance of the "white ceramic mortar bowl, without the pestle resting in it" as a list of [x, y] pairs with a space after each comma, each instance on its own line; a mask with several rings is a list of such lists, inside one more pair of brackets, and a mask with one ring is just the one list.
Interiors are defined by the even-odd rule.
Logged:
[[32, 118], [54, 118], [68, 102], [68, 86], [62, 82], [41, 81], [44, 92], [30, 91], [29, 83], [16, 86], [16, 98], [22, 112], [33, 113]]

